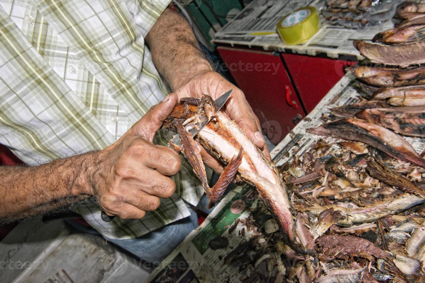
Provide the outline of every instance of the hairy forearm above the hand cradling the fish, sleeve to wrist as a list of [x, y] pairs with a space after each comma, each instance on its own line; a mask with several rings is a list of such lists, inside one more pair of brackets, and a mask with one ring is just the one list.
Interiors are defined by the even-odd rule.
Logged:
[[166, 9], [146, 36], [156, 68], [173, 91], [191, 78], [212, 70], [189, 23]]

